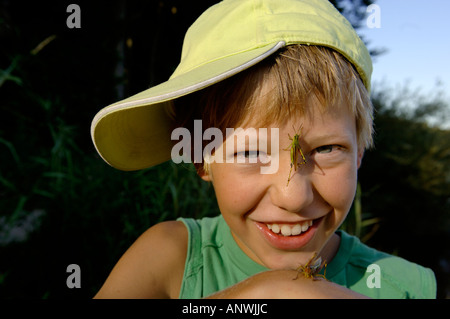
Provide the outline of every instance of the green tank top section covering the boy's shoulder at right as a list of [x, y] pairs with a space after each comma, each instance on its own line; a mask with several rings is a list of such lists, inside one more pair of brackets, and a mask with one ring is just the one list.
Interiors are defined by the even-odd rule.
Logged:
[[330, 263], [332, 281], [374, 298], [436, 297], [431, 269], [373, 249], [345, 232], [340, 236], [339, 251]]

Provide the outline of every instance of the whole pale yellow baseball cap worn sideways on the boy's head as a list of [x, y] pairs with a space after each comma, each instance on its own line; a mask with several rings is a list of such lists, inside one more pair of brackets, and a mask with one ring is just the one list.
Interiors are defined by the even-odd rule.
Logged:
[[291, 44], [340, 52], [370, 91], [370, 54], [328, 0], [224, 0], [188, 29], [180, 64], [169, 80], [97, 113], [91, 135], [98, 153], [125, 171], [169, 160], [174, 99], [229, 78]]

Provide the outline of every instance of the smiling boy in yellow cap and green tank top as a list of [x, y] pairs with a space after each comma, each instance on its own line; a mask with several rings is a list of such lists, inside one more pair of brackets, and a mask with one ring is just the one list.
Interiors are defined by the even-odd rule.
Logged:
[[[372, 143], [371, 70], [326, 0], [208, 9], [172, 77], [101, 110], [92, 136], [110, 165], [142, 169], [178, 153], [175, 129], [195, 135], [201, 119], [221, 134], [182, 155], [212, 182], [221, 216], [151, 227], [96, 297], [433, 298], [432, 271], [337, 231]], [[328, 280], [314, 276], [320, 261]]]

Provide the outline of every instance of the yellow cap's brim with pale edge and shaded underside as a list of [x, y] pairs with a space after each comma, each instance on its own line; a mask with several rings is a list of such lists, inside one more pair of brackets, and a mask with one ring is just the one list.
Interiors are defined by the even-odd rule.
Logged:
[[284, 41], [279, 41], [210, 61], [105, 107], [97, 113], [91, 126], [98, 153], [109, 165], [124, 171], [169, 160], [172, 100], [248, 69], [285, 45]]

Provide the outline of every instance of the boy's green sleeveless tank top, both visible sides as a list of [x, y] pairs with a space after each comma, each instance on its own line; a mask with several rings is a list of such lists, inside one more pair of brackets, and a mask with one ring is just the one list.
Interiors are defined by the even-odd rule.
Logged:
[[[203, 298], [268, 270], [239, 248], [222, 216], [179, 220], [189, 234], [180, 298]], [[436, 297], [430, 269], [372, 249], [343, 231], [337, 233], [341, 242], [327, 266], [328, 280], [371, 298]]]

